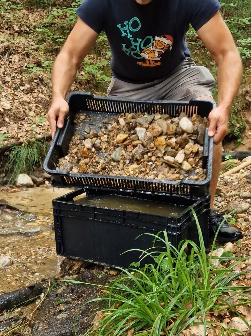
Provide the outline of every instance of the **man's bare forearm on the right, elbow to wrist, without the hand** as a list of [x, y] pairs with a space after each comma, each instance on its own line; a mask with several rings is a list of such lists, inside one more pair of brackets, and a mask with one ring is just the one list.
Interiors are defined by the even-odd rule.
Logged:
[[218, 106], [229, 113], [238, 93], [242, 78], [242, 62], [236, 51], [228, 51], [219, 60], [218, 65]]

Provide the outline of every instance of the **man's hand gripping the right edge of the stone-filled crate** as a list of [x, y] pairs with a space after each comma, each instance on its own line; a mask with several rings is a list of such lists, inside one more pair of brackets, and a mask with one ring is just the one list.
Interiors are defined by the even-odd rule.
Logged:
[[225, 135], [228, 134], [228, 117], [229, 110], [221, 106], [213, 109], [208, 116], [210, 121], [208, 135], [214, 136], [214, 143], [217, 145], [221, 143]]

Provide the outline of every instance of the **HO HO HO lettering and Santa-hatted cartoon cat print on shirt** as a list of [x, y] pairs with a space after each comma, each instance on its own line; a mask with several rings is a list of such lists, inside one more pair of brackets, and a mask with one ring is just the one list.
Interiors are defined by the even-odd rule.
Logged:
[[[133, 17], [130, 22], [125, 21], [124, 26], [117, 25], [121, 31], [121, 36], [127, 36], [128, 44], [123, 43], [122, 49], [128, 56], [137, 59], [144, 58], [145, 61], [138, 61], [137, 64], [142, 67], [156, 67], [161, 65], [160, 59], [164, 52], [171, 51], [173, 47], [173, 38], [170, 35], [146, 36], [142, 41], [140, 38], [133, 37], [132, 34], [141, 29], [141, 22], [138, 17]], [[134, 27], [134, 28], [133, 28]]]

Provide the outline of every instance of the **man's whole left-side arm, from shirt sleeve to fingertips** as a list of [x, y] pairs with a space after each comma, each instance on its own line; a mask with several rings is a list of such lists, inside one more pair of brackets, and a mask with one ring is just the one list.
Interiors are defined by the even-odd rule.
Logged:
[[64, 125], [65, 116], [69, 112], [65, 97], [76, 78], [81, 62], [97, 38], [98, 34], [79, 18], [55, 61], [52, 72], [52, 104], [47, 114], [52, 137], [57, 125], [59, 128]]

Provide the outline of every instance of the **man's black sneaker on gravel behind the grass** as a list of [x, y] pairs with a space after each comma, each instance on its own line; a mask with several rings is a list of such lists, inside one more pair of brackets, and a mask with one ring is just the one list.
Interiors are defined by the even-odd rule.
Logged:
[[[209, 217], [209, 225], [214, 235], [221, 225], [224, 219], [223, 215], [218, 215], [214, 209], [211, 209], [211, 215]], [[221, 229], [218, 233], [217, 240], [221, 242], [235, 242], [243, 238], [243, 234], [237, 230], [237, 228], [232, 227], [226, 221], [222, 224]]]

